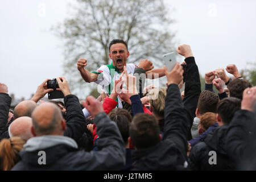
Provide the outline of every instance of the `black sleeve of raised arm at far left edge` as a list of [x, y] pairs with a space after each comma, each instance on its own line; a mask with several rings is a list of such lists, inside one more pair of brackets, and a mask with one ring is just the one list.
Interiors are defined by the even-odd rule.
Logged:
[[7, 93], [0, 93], [0, 134], [5, 130], [8, 121], [11, 97]]

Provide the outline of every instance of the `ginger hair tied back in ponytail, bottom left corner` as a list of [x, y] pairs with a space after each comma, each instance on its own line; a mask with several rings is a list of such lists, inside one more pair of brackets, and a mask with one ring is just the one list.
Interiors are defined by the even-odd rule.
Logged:
[[18, 154], [25, 143], [26, 141], [20, 137], [4, 138], [1, 140], [0, 158], [3, 171], [9, 171], [19, 162], [20, 158]]

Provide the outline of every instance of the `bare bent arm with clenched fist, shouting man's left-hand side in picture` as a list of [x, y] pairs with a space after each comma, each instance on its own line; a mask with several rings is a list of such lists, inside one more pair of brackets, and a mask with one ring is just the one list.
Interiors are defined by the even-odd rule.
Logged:
[[98, 78], [98, 74], [89, 72], [87, 69], [84, 68], [86, 67], [86, 65], [87, 65], [86, 59], [79, 59], [77, 61], [77, 69], [79, 70], [82, 78], [86, 82], [96, 81]]

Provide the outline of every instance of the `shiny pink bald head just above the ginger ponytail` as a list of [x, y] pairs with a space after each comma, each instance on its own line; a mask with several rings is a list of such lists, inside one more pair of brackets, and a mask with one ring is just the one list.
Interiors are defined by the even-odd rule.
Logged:
[[11, 137], [20, 137], [24, 140], [28, 140], [33, 137], [31, 133], [32, 118], [19, 117], [15, 119], [9, 126], [9, 135]]

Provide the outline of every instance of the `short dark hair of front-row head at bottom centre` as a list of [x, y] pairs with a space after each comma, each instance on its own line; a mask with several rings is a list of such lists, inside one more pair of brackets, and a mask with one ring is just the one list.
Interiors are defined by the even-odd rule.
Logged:
[[159, 132], [158, 121], [150, 114], [136, 114], [131, 122], [130, 137], [138, 149], [155, 146], [159, 142]]

